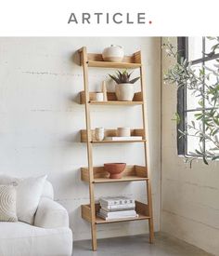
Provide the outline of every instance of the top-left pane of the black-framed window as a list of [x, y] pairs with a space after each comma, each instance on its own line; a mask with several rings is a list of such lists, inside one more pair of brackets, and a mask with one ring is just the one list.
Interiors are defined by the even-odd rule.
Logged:
[[188, 37], [188, 60], [194, 61], [202, 58], [202, 37]]

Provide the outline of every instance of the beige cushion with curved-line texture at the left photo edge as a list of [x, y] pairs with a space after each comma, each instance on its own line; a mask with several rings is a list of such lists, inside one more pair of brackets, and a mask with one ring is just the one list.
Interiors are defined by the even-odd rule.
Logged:
[[13, 185], [0, 185], [0, 222], [18, 222], [16, 189]]

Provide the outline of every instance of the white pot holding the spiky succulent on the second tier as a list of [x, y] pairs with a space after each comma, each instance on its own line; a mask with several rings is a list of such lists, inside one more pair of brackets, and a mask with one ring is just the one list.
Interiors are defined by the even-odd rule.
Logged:
[[134, 84], [126, 83], [116, 85], [116, 98], [118, 101], [133, 101], [134, 95]]

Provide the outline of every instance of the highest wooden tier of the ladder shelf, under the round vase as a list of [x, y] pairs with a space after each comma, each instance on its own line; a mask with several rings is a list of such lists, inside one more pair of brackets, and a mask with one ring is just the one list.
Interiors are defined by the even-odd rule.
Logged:
[[97, 68], [121, 68], [136, 69], [141, 67], [141, 52], [137, 51], [133, 55], [124, 56], [122, 62], [103, 61], [102, 54], [86, 53], [86, 47], [79, 49], [80, 65], [87, 63], [88, 67]]

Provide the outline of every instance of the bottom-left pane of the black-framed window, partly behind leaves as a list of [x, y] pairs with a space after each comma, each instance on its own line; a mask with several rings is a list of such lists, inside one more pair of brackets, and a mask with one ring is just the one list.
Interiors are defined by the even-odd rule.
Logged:
[[[187, 113], [187, 125], [192, 126], [192, 121], [195, 122], [195, 128], [202, 129], [201, 121], [197, 121], [195, 118], [196, 114], [200, 114], [200, 112], [188, 112]], [[195, 153], [196, 150], [200, 150], [200, 138], [198, 134], [196, 135], [197, 130], [194, 128], [187, 129], [187, 154], [191, 155]]]

